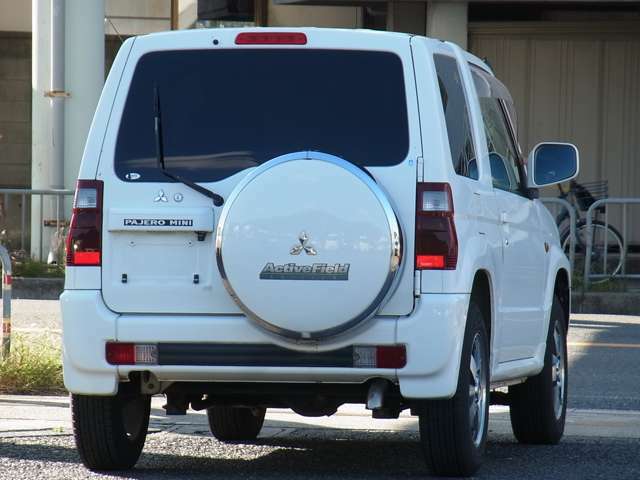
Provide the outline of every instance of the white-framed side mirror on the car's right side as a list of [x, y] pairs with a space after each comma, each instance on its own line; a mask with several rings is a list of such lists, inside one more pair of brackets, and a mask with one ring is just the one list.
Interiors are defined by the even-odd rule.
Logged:
[[578, 176], [578, 149], [571, 143], [539, 143], [529, 154], [528, 167], [529, 188], [566, 182]]

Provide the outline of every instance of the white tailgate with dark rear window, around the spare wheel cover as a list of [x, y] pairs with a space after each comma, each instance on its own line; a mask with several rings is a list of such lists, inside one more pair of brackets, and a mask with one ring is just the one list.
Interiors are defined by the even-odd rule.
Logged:
[[105, 302], [129, 313], [241, 313], [216, 266], [220, 207], [157, 167], [157, 87], [167, 168], [224, 198], [254, 167], [295, 151], [370, 173], [404, 233], [406, 266], [381, 313], [409, 314], [421, 145], [408, 37], [314, 31], [306, 46], [275, 48], [235, 46], [236, 34], [141, 37], [131, 50], [97, 171]]

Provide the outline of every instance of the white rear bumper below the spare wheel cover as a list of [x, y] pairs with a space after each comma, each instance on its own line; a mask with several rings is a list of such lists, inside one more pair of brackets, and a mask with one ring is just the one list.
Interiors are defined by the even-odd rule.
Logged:
[[[113, 395], [118, 382], [147, 370], [160, 381], [362, 383], [374, 377], [400, 385], [407, 398], [445, 398], [458, 379], [467, 294], [423, 295], [408, 317], [376, 317], [326, 344], [292, 344], [256, 327], [244, 316], [120, 315], [98, 290], [66, 290], [63, 319], [64, 380], [73, 393]], [[108, 341], [134, 343], [263, 344], [301, 353], [339, 352], [353, 345], [405, 345], [401, 369], [345, 366], [113, 366], [105, 359]], [[215, 362], [213, 362], [215, 363]]]

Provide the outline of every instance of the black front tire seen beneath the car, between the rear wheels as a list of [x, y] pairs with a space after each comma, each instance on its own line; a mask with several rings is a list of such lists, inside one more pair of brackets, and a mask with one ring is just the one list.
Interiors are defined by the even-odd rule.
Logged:
[[223, 442], [255, 440], [264, 423], [265, 408], [215, 406], [207, 409], [209, 429]]

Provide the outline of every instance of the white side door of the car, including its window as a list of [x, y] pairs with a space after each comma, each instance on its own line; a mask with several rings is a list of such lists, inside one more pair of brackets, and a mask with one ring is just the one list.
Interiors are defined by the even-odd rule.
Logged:
[[477, 67], [472, 75], [484, 122], [493, 187], [500, 212], [503, 262], [497, 302], [498, 362], [533, 357], [543, 324], [544, 240], [534, 202], [527, 198], [522, 158], [510, 122], [510, 96]]

